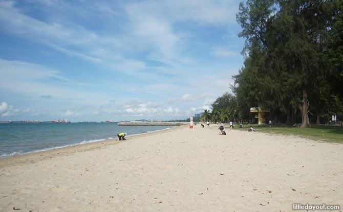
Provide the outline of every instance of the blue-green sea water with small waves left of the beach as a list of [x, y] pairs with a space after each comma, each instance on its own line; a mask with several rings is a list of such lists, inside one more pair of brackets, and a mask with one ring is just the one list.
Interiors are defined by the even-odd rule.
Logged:
[[171, 128], [118, 126], [117, 123], [0, 123], [0, 158], [101, 142]]

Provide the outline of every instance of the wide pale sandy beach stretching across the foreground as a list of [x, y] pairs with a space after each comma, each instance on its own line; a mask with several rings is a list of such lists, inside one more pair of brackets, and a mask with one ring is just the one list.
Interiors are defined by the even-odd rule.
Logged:
[[218, 127], [0, 159], [0, 211], [342, 211], [343, 144]]

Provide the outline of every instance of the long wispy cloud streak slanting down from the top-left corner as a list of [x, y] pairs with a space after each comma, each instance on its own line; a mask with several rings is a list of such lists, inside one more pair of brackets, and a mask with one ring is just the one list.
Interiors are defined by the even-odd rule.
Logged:
[[[11, 34], [30, 39], [49, 46], [69, 56], [76, 56], [92, 62], [103, 62], [103, 55], [97, 55], [99, 46], [116, 46], [117, 41], [112, 38], [100, 37], [96, 33], [82, 26], [61, 23], [62, 17], [55, 20], [42, 21], [26, 15], [15, 8], [13, 2], [1, 2], [0, 22], [2, 29]], [[60, 3], [58, 4], [60, 7]], [[70, 9], [70, 7], [67, 7]], [[75, 11], [71, 11], [75, 13]], [[108, 48], [107, 48], [108, 49]], [[115, 49], [115, 48], [114, 48]], [[114, 55], [114, 54], [105, 54]], [[100, 56], [100, 57], [99, 57]], [[101, 57], [102, 56], [102, 57]]]

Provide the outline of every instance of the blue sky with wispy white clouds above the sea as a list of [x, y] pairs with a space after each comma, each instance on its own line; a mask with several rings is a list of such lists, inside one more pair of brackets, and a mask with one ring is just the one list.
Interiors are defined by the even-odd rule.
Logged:
[[210, 110], [243, 65], [239, 3], [0, 0], [0, 121]]

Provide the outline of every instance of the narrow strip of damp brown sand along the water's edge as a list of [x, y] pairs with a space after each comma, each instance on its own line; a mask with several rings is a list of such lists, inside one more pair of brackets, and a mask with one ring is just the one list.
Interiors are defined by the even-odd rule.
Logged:
[[[146, 133], [141, 133], [141, 134], [136, 134], [136, 135], [130, 135], [130, 136], [126, 137], [126, 141], [133, 139], [133, 138], [137, 138], [137, 137], [143, 137], [143, 136], [173, 131], [173, 130], [176, 130], [177, 128], [180, 128], [180, 127], [184, 127], [184, 126], [181, 125], [181, 126], [176, 126], [173, 128], [154, 131], [154, 132], [146, 132]], [[16, 163], [23, 164], [26, 162], [30, 162], [30, 163], [38, 162], [40, 160], [44, 160], [46, 158], [52, 158], [52, 157], [57, 156], [57, 155], [72, 154], [72, 153], [79, 152], [79, 151], [88, 151], [88, 150], [100, 149], [100, 148], [108, 147], [110, 145], [117, 145], [117, 144], [125, 142], [125, 140], [117, 140], [117, 139], [118, 138], [107, 139], [107, 140], [103, 140], [103, 141], [99, 141], [99, 142], [79, 144], [79, 145], [61, 147], [61, 148], [56, 148], [56, 149], [51, 149], [51, 150], [38, 151], [38, 152], [26, 153], [26, 154], [22, 154], [22, 155], [4, 157], [4, 158], [0, 158], [0, 168], [3, 168], [5, 166], [13, 166]], [[39, 158], [37, 158], [37, 157], [39, 157]], [[36, 161], [36, 160], [38, 160], [38, 161]]]

